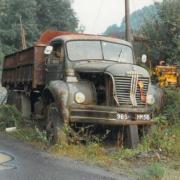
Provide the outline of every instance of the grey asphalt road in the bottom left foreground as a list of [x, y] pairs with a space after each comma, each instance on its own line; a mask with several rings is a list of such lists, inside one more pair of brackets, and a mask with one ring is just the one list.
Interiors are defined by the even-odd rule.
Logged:
[[128, 180], [99, 167], [54, 157], [0, 135], [0, 180]]

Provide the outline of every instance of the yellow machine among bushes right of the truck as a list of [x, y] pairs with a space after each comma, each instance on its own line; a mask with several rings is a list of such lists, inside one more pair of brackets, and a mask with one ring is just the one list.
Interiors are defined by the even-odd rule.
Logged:
[[177, 66], [159, 65], [156, 66], [154, 74], [158, 78], [159, 86], [170, 87], [178, 85], [178, 70]]

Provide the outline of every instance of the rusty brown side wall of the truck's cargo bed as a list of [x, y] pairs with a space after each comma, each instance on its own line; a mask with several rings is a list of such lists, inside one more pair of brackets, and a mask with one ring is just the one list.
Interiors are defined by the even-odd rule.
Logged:
[[31, 85], [33, 88], [45, 83], [45, 46], [34, 46], [8, 55], [4, 59], [3, 85]]

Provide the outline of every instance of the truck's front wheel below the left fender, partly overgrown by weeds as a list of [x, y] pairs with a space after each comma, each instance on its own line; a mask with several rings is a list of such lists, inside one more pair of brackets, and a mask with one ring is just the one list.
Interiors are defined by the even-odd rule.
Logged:
[[55, 103], [49, 104], [45, 109], [46, 132], [49, 143], [65, 143], [64, 123]]

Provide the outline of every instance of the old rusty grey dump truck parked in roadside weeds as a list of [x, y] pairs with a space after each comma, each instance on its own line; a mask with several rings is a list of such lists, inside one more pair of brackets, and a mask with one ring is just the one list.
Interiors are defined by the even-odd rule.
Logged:
[[124, 40], [46, 31], [33, 47], [5, 56], [2, 84], [8, 103], [45, 119], [54, 138], [63, 123], [124, 126], [135, 146], [138, 127], [153, 123], [150, 75]]

